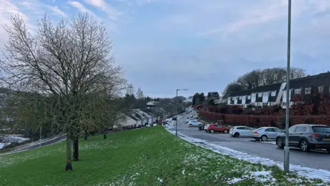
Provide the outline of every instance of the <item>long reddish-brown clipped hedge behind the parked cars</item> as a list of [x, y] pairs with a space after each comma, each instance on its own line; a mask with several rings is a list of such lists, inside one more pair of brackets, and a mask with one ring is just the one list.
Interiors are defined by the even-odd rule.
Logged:
[[[249, 127], [279, 127], [285, 128], [285, 116], [252, 116], [236, 114], [219, 114], [214, 112], [199, 111], [199, 116], [208, 118], [211, 121], [222, 120], [230, 125], [245, 125]], [[329, 125], [330, 117], [323, 116], [290, 116], [289, 124], [296, 125], [301, 123], [325, 124]]]

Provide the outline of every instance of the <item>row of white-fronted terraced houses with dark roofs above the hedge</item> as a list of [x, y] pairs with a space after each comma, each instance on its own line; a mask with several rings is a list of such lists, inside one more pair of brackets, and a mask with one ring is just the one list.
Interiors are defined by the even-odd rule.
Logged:
[[[286, 87], [287, 83], [282, 82], [254, 87], [250, 90], [231, 92], [230, 96], [223, 99], [222, 102], [228, 105], [242, 105], [243, 108], [248, 107], [248, 105], [255, 107], [281, 105], [285, 108]], [[292, 79], [289, 88], [289, 106], [296, 104], [292, 101], [292, 95], [311, 94], [312, 88], [316, 88], [314, 91], [330, 94], [330, 72]]]

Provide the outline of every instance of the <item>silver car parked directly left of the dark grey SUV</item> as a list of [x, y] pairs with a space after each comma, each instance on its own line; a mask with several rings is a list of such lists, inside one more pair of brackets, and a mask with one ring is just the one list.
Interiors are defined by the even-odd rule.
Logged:
[[251, 130], [250, 137], [256, 141], [267, 141], [268, 139], [276, 139], [278, 134], [283, 134], [283, 130], [277, 127], [260, 127], [256, 130]]

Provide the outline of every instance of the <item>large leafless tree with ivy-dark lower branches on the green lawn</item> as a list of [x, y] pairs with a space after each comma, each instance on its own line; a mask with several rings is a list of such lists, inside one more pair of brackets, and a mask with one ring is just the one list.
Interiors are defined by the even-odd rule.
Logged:
[[104, 23], [88, 14], [58, 24], [45, 16], [34, 34], [19, 15], [11, 23], [5, 27], [9, 41], [0, 61], [1, 83], [21, 93], [15, 95], [25, 103], [16, 105], [21, 123], [37, 121], [22, 115], [24, 110], [43, 110], [32, 125], [50, 123], [52, 130], [67, 134], [65, 170], [72, 170], [72, 140], [77, 161], [80, 132], [103, 130], [114, 112], [106, 104], [126, 88], [122, 68], [111, 56], [111, 39]]

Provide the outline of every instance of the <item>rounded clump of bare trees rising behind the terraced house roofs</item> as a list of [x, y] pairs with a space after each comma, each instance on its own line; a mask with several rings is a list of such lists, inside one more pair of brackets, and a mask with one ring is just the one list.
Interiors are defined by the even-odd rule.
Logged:
[[[307, 76], [306, 71], [301, 68], [290, 69], [290, 79], [297, 79]], [[252, 70], [240, 76], [236, 81], [229, 83], [223, 90], [224, 98], [230, 95], [230, 92], [249, 90], [261, 85], [271, 85], [281, 83], [287, 79], [286, 68], [266, 68], [262, 70]]]

